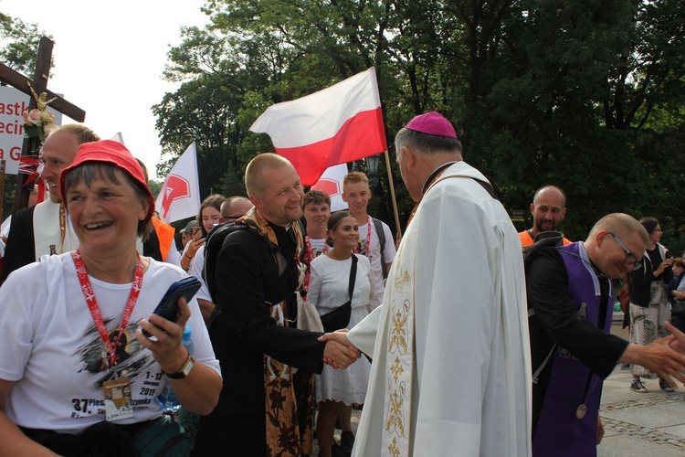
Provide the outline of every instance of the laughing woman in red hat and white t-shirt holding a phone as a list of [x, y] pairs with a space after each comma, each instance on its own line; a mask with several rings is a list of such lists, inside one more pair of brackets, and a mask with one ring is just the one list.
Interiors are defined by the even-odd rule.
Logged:
[[136, 251], [154, 198], [132, 154], [84, 143], [59, 182], [79, 250], [44, 256], [0, 288], [0, 454], [148, 454], [139, 433], [178, 427], [155, 400], [167, 378], [186, 409], [207, 414], [218, 361], [195, 299], [179, 300], [175, 323], [152, 314], [186, 274]]

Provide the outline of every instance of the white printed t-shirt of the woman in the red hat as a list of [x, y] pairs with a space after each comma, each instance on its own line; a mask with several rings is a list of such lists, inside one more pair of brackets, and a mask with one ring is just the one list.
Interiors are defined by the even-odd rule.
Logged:
[[[116, 370], [132, 383], [133, 417], [127, 424], [162, 414], [156, 396], [166, 377], [152, 353], [135, 339], [137, 323], [152, 314], [172, 282], [186, 276], [180, 268], [150, 260], [142, 289], [125, 329], [126, 345]], [[132, 284], [90, 278], [108, 333], [121, 324]], [[105, 420], [102, 383], [114, 372], [106, 356], [70, 253], [43, 256], [12, 273], [0, 288], [0, 378], [15, 382], [5, 413], [17, 425], [79, 433]], [[190, 303], [195, 359], [220, 374], [197, 302]]]

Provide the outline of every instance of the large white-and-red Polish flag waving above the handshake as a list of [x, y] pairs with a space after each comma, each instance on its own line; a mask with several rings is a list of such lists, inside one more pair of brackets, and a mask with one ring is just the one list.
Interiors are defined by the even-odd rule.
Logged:
[[387, 143], [375, 69], [271, 105], [249, 130], [269, 134], [276, 153], [295, 166], [303, 186], [312, 186], [332, 165], [381, 153]]

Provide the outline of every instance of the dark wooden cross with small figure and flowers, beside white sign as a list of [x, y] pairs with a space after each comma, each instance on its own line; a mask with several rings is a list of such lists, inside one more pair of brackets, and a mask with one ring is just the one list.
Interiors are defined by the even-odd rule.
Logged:
[[[64, 100], [57, 94], [47, 90], [47, 78], [50, 74], [50, 59], [52, 58], [52, 48], [55, 43], [47, 38], [40, 37], [40, 45], [38, 46], [38, 58], [36, 60], [36, 69], [34, 70], [33, 80], [29, 80], [21, 73], [16, 72], [14, 69], [10, 69], [5, 64], [0, 63], [0, 81], [3, 81], [17, 90], [21, 90], [27, 95], [31, 96], [31, 90], [29, 90], [28, 84], [33, 86], [36, 93], [46, 92], [47, 100], [55, 99], [50, 101], [50, 108], [54, 108], [56, 111], [66, 114], [68, 117], [76, 122], [83, 122], [86, 119], [86, 112], [81, 110], [78, 106]], [[33, 110], [37, 107], [36, 100], [31, 97], [31, 101], [28, 104], [28, 109]], [[24, 139], [24, 144], [21, 149], [22, 155], [29, 154], [29, 139]], [[15, 193], [15, 203], [12, 207], [12, 214], [15, 214], [19, 209], [26, 207], [28, 205], [28, 194], [30, 190], [24, 186], [28, 175], [18, 173], [16, 175], [16, 193]], [[0, 189], [1, 193], [2, 189]], [[2, 197], [0, 197], [0, 202]]]

